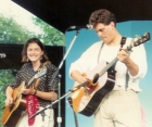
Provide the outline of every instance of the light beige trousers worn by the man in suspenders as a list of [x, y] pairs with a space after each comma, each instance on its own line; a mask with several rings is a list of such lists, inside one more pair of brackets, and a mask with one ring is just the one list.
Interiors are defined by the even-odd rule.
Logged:
[[141, 127], [141, 109], [134, 90], [113, 90], [94, 114], [94, 127]]

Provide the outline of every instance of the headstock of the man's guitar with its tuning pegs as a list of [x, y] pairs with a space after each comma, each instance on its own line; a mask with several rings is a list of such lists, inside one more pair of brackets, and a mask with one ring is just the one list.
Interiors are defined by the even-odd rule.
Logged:
[[150, 40], [150, 33], [145, 33], [143, 36], [136, 38], [131, 45], [132, 47], [137, 47], [147, 42], [148, 40]]

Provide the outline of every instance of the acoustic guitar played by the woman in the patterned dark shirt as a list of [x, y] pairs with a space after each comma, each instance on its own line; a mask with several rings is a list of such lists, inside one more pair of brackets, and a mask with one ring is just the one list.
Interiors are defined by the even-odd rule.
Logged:
[[[45, 67], [42, 71], [37, 73], [29, 81], [26, 88], [28, 88], [31, 82], [45, 75], [47, 68]], [[15, 127], [22, 115], [26, 111], [26, 99], [25, 96], [22, 94], [22, 89], [25, 88], [25, 81], [23, 81], [17, 88], [13, 90], [13, 105], [5, 106], [2, 114], [2, 125], [9, 127]]]

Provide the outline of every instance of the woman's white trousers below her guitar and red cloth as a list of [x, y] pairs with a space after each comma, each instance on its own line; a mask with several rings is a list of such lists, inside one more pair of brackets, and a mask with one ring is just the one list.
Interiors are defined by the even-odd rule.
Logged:
[[[40, 107], [41, 111], [43, 107]], [[52, 109], [47, 109], [45, 111], [45, 122], [42, 120], [41, 114], [35, 117], [35, 123], [33, 126], [28, 126], [28, 116], [25, 114], [23, 118], [18, 122], [16, 127], [53, 127], [54, 126], [54, 111]]]

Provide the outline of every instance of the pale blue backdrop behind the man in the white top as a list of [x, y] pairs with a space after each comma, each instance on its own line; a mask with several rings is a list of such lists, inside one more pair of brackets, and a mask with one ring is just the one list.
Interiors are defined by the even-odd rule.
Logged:
[[[142, 36], [144, 33], [150, 33], [152, 35], [152, 21], [129, 21], [117, 24], [118, 31], [126, 37]], [[66, 50], [69, 47], [76, 31], [65, 33], [65, 43]], [[91, 46], [94, 41], [100, 40], [93, 29], [87, 30], [81, 29], [74, 42], [69, 53], [66, 58], [66, 92], [73, 88], [74, 80], [68, 76], [68, 68], [72, 62], [77, 60], [84, 50]], [[139, 93], [139, 99], [141, 105], [143, 106], [147, 115], [148, 127], [152, 127], [152, 41], [144, 43], [147, 55], [148, 55], [148, 73], [144, 79], [141, 80], [140, 87], [142, 92]], [[142, 58], [141, 58], [142, 59]], [[67, 99], [66, 99], [67, 100]], [[121, 102], [119, 102], [121, 103]], [[92, 117], [87, 117], [81, 114], [77, 114], [78, 127], [92, 127]], [[66, 127], [76, 127], [74, 120], [73, 110], [66, 102], [66, 116], [65, 116]]]

